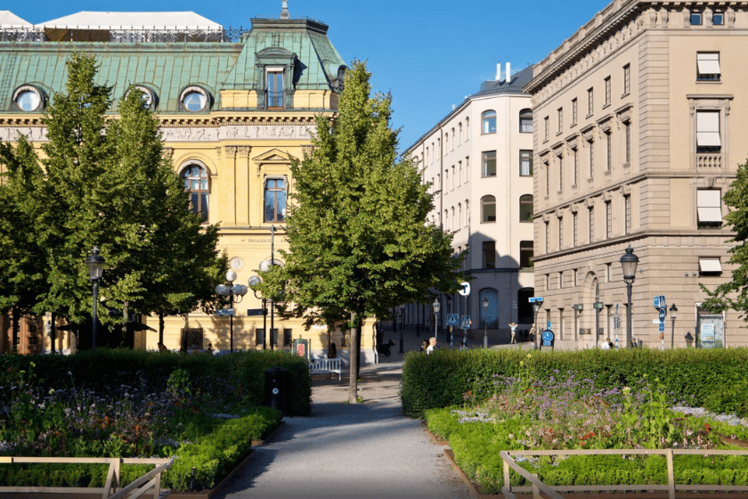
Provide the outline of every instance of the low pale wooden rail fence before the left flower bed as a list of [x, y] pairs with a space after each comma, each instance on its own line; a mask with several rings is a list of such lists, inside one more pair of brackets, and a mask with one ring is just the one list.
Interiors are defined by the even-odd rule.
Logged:
[[[101, 494], [102, 499], [134, 499], [142, 495], [162, 496], [161, 473], [171, 468], [174, 458], [122, 458], [122, 457], [0, 457], [0, 463], [62, 463], [109, 464], [106, 485], [101, 487], [0, 487], [0, 497], [9, 494]], [[156, 466], [126, 487], [120, 487], [119, 468], [122, 464], [151, 464]]]

